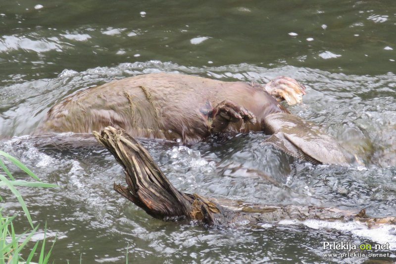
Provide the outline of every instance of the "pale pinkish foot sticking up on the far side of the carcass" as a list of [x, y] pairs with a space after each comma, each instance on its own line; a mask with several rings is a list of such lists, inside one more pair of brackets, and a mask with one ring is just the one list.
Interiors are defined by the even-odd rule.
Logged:
[[305, 95], [305, 86], [295, 79], [285, 76], [278, 76], [265, 85], [265, 90], [278, 101], [286, 101], [289, 105], [302, 102]]

